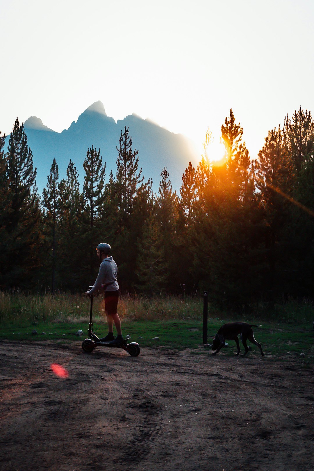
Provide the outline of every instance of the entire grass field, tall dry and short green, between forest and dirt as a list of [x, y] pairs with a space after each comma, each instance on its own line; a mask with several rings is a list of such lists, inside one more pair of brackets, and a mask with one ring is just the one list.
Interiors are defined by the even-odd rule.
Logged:
[[[95, 299], [93, 322], [95, 333], [107, 333], [102, 300]], [[123, 297], [119, 303], [123, 334], [143, 347], [192, 349], [205, 353], [203, 342], [203, 300], [201, 298]], [[278, 320], [277, 320], [277, 319]], [[280, 319], [280, 321], [279, 321]], [[313, 306], [309, 302], [282, 304], [276, 313], [248, 315], [218, 312], [209, 304], [208, 343], [225, 322], [246, 321], [262, 325], [254, 328], [256, 339], [266, 353], [274, 356], [300, 356], [304, 364], [314, 363]], [[0, 341], [53, 340], [69, 342], [87, 337], [89, 299], [79, 295], [25, 296], [0, 292]], [[36, 330], [37, 335], [32, 334]], [[82, 337], [75, 336], [78, 330]], [[153, 340], [159, 337], [159, 340]], [[225, 354], [233, 355], [235, 342], [230, 341]], [[250, 342], [248, 342], [248, 345]], [[255, 346], [252, 346], [256, 349]], [[206, 350], [208, 351], [208, 350]], [[258, 352], [259, 353], [259, 352]], [[301, 359], [300, 359], [301, 361]]]

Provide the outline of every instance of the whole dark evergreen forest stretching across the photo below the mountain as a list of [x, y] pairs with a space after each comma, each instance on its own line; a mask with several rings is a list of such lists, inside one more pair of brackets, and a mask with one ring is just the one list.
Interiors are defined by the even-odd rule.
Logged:
[[[40, 195], [18, 119], [0, 134], [0, 289], [84, 292], [97, 276], [96, 246], [112, 246], [121, 292], [202, 295], [222, 308], [271, 308], [313, 298], [314, 122], [299, 108], [270, 130], [251, 159], [233, 110], [221, 126], [225, 157], [212, 162], [208, 130], [196, 168], [174, 191], [140, 167], [129, 128], [117, 142], [116, 173], [91, 146], [78, 183], [74, 162], [59, 179], [54, 159]], [[144, 158], [145, 156], [143, 156]], [[148, 176], [149, 177], [149, 176]]]

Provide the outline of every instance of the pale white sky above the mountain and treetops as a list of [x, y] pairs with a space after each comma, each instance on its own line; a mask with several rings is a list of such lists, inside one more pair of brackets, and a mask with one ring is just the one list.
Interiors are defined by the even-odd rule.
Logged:
[[[216, 141], [232, 107], [251, 157], [314, 114], [314, 0], [0, 0], [0, 131], [61, 132], [93, 102]], [[133, 143], [136, 147], [136, 143]]]

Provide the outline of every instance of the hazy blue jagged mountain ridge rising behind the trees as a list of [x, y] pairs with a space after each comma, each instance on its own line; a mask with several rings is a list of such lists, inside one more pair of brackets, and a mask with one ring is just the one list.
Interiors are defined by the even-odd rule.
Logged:
[[124, 127], [129, 127], [133, 150], [138, 150], [139, 167], [145, 180], [153, 180], [153, 190], [158, 191], [160, 174], [167, 167], [174, 189], [182, 184], [182, 174], [188, 163], [194, 165], [198, 156], [192, 143], [181, 134], [174, 134], [148, 119], [136, 114], [115, 120], [107, 116], [104, 105], [97, 101], [89, 106], [68, 129], [58, 133], [43, 124], [40, 118], [31, 116], [24, 122], [28, 145], [32, 149], [34, 166], [37, 167], [37, 185], [40, 193], [47, 184], [53, 159], [59, 167], [59, 178], [65, 178], [70, 159], [75, 162], [82, 184], [83, 162], [89, 147], [100, 148], [106, 162], [106, 181], [110, 171], [116, 173], [119, 137]]

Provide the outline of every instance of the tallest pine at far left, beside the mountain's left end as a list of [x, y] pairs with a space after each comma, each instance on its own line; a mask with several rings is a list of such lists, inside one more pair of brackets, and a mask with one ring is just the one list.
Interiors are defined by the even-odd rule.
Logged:
[[6, 159], [9, 208], [6, 253], [14, 252], [15, 257], [6, 259], [3, 284], [30, 287], [40, 265], [41, 213], [32, 151], [27, 145], [24, 125], [20, 126], [18, 118], [10, 134]]

